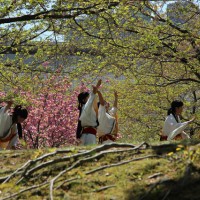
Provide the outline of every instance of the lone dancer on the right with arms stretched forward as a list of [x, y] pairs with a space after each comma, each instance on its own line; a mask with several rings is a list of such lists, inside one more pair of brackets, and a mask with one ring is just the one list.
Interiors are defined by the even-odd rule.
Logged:
[[182, 101], [175, 100], [171, 103], [171, 108], [168, 110], [168, 116], [164, 122], [163, 135], [161, 135], [160, 141], [172, 139], [190, 139], [190, 136], [184, 132], [184, 129], [188, 126], [188, 124], [193, 122], [195, 118], [182, 123], [180, 120], [182, 111]]

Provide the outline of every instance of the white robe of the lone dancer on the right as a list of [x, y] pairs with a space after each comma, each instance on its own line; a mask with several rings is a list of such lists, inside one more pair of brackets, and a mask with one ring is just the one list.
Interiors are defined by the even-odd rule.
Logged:
[[174, 139], [178, 134], [181, 134], [183, 139], [190, 139], [190, 136], [183, 131], [188, 126], [188, 124], [188, 121], [181, 123], [179, 116], [177, 122], [174, 116], [170, 114], [165, 119], [163, 133], [164, 135], [168, 136], [167, 140]]

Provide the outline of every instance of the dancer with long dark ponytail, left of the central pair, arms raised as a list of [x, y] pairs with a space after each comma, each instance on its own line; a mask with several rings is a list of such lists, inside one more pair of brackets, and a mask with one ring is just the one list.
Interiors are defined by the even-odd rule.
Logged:
[[101, 85], [101, 80], [89, 93], [82, 92], [78, 95], [79, 101], [79, 121], [76, 137], [81, 140], [82, 145], [96, 144], [96, 128], [98, 126], [98, 108], [95, 101], [96, 93]]

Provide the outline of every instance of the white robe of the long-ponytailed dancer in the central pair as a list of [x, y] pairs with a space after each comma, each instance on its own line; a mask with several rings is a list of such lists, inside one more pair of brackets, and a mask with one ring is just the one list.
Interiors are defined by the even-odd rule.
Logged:
[[[97, 114], [93, 107], [95, 97], [96, 95], [91, 92], [88, 101], [82, 107], [81, 116], [79, 118], [82, 127], [97, 126]], [[80, 139], [83, 145], [96, 144], [96, 135], [91, 133], [82, 134]]]

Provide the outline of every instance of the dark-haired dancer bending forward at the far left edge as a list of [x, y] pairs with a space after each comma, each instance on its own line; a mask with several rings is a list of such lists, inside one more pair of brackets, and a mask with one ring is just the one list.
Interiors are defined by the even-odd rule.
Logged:
[[0, 149], [15, 149], [18, 142], [18, 131], [21, 123], [28, 117], [28, 111], [21, 105], [14, 108], [12, 114], [9, 110], [12, 101], [0, 109]]

